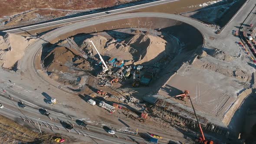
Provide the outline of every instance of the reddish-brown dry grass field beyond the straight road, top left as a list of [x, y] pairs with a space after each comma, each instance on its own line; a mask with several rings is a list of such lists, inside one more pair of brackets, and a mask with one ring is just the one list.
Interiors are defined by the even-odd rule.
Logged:
[[0, 0], [0, 27], [28, 25], [79, 13], [73, 10], [112, 7], [131, 1], [137, 0]]

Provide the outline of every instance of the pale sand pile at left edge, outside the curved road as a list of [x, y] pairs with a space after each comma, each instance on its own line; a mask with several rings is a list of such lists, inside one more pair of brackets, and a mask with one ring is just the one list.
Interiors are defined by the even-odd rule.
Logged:
[[29, 41], [23, 36], [11, 33], [0, 36], [0, 66], [11, 68], [23, 57], [28, 45]]

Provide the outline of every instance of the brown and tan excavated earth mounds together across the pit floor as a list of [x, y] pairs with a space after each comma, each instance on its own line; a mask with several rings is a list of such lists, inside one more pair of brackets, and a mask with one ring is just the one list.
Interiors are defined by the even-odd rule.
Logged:
[[[108, 33], [111, 33], [111, 36]], [[120, 33], [126, 35], [118, 37]], [[117, 37], [118, 39], [115, 39]], [[95, 73], [92, 59], [99, 60], [91, 40], [103, 57], [125, 60], [125, 65], [145, 62], [152, 64], [164, 56], [173, 56], [179, 47], [177, 39], [163, 36], [156, 30], [150, 33], [138, 29], [119, 29], [92, 33], [90, 36], [78, 34], [56, 44], [44, 46], [41, 59], [49, 77], [72, 89], [81, 90], [88, 76]], [[44, 52], [45, 49], [47, 51]], [[158, 59], [155, 59], [156, 57]]]

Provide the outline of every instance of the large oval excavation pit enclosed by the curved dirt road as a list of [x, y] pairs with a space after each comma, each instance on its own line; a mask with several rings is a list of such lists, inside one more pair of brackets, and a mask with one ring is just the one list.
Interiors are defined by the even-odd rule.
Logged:
[[[108, 63], [109, 59], [115, 58], [119, 66], [124, 63], [125, 69], [142, 65], [144, 70], [141, 71], [141, 77], [147, 73], [155, 78], [161, 77], [164, 73], [177, 71], [182, 63], [193, 59], [194, 52], [203, 45], [203, 36], [197, 29], [167, 18], [136, 17], [106, 22], [105, 29], [102, 25], [103, 23], [99, 23], [65, 33], [59, 36], [62, 40], [55, 39], [51, 41], [52, 44], [43, 45], [40, 59], [43, 62], [43, 69], [46, 69], [51, 79], [76, 92], [82, 91], [85, 85], [90, 85], [88, 79], [102, 71], [102, 62], [90, 41], [95, 44], [105, 62]], [[108, 63], [108, 66], [110, 65], [111, 63]], [[110, 73], [116, 75], [109, 75], [109, 82], [115, 77], [125, 80], [124, 77], [121, 78], [121, 73], [116, 73], [116, 65], [110, 67]], [[127, 73], [125, 69], [123, 72]], [[128, 70], [132, 75], [134, 71]], [[149, 86], [155, 83], [164, 84], [170, 75], [166, 76], [161, 80], [151, 79]], [[114, 87], [130, 88], [132, 82], [133, 78], [126, 79], [121, 85]], [[141, 86], [141, 89], [144, 89], [143, 85]], [[139, 89], [136, 91], [139, 95], [146, 94]]]

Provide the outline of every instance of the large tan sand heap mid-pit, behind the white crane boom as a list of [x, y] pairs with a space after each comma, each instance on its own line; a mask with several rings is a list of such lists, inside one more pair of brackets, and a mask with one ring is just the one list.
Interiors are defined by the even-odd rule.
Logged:
[[106, 39], [103, 36], [94, 36], [85, 39], [81, 48], [86, 52], [97, 56], [97, 52], [89, 42], [92, 40], [101, 55], [114, 56], [117, 59], [131, 60], [135, 65], [148, 61], [157, 61], [157, 56], [165, 55], [166, 41], [158, 36], [136, 34], [122, 42]]

